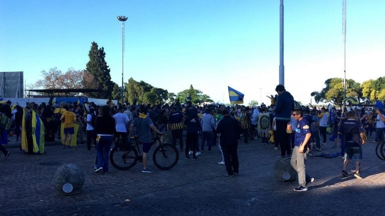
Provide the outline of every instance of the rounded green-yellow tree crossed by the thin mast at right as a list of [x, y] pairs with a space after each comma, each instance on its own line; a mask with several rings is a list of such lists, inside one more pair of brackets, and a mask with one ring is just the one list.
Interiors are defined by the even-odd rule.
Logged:
[[[330, 101], [336, 105], [342, 106], [343, 103], [343, 84], [341, 78], [329, 78], [325, 81], [325, 87], [321, 91], [311, 92], [315, 101]], [[361, 85], [352, 79], [346, 80], [346, 96], [354, 96], [357, 99], [362, 97]]]

